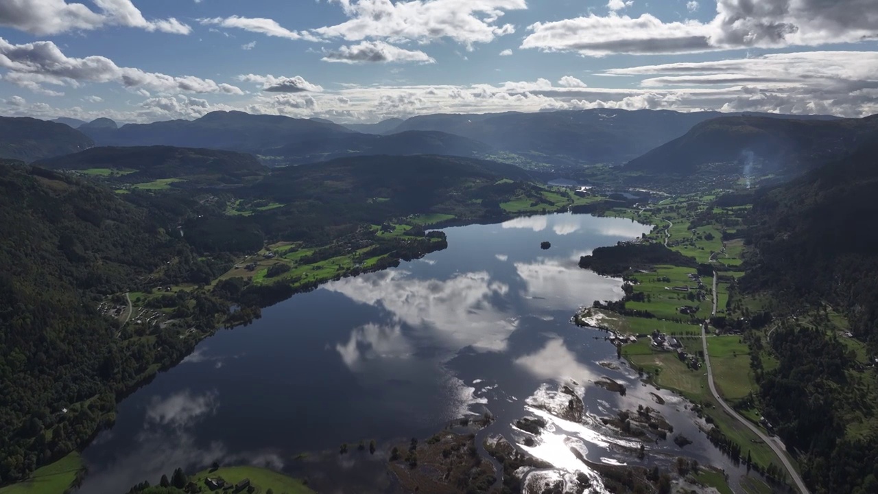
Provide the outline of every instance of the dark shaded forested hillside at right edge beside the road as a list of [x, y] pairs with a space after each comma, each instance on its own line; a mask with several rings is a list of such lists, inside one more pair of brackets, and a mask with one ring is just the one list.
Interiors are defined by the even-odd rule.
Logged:
[[[788, 447], [804, 453], [802, 473], [818, 492], [878, 490], [874, 364], [878, 350], [878, 135], [756, 200], [747, 233], [755, 257], [741, 287], [768, 292], [801, 316], [777, 323], [770, 340], [779, 367], [760, 374], [765, 415]], [[858, 355], [832, 323], [846, 315]]]

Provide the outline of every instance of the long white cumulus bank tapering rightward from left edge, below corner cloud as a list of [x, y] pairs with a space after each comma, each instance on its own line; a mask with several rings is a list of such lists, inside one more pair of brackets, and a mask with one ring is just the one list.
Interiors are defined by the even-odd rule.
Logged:
[[77, 86], [82, 83], [115, 82], [126, 88], [158, 92], [219, 92], [243, 94], [230, 84], [217, 84], [196, 76], [168, 76], [140, 69], [119, 67], [104, 56], [68, 57], [52, 41], [13, 45], [0, 38], [0, 68], [4, 79], [32, 91], [47, 91], [42, 84]]

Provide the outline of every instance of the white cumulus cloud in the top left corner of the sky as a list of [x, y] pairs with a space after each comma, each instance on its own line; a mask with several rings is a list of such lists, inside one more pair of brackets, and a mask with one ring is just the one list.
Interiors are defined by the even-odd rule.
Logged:
[[98, 11], [65, 0], [7, 0], [0, 2], [0, 25], [25, 33], [46, 35], [123, 25], [147, 31], [189, 34], [191, 27], [176, 18], [148, 20], [131, 0], [93, 0]]

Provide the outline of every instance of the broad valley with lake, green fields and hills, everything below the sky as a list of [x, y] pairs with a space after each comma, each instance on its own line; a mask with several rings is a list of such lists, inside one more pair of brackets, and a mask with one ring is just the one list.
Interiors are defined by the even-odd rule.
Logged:
[[[587, 125], [594, 113], [487, 115], [472, 126], [442, 115], [378, 135], [218, 113], [149, 124], [148, 133], [96, 122], [83, 132], [122, 146], [75, 143], [69, 154], [37, 149], [30, 164], [4, 162], [0, 220], [14, 234], [3, 244], [13, 267], [0, 294], [4, 307], [24, 309], [2, 319], [0, 493], [50, 494], [61, 484], [152, 492], [142, 481], [174, 469], [205, 483], [202, 470], [219, 459], [232, 483], [249, 476], [325, 491], [387, 469], [403, 490], [441, 491], [449, 479], [436, 484], [433, 467], [411, 459], [394, 463], [388, 445], [400, 434], [438, 437], [469, 414], [491, 417], [470, 446], [458, 445], [477, 450], [479, 471], [495, 467], [492, 482], [455, 474], [476, 491], [865, 488], [867, 479], [846, 483], [840, 472], [867, 469], [874, 455], [875, 291], [853, 274], [871, 272], [874, 259], [846, 216], [871, 214], [872, 119], [615, 115], [630, 120], [606, 129], [616, 137], [654, 119], [695, 127], [679, 137], [668, 125], [653, 138], [671, 141], [637, 159], [607, 134], [608, 154], [572, 158], [583, 149], [550, 143], [549, 156], [521, 135], [518, 147], [500, 135], [564, 119], [583, 132], [606, 114]], [[168, 134], [140, 137], [155, 129]], [[315, 144], [324, 134], [331, 139]], [[778, 135], [814, 149], [759, 151], [776, 148]], [[711, 147], [716, 140], [725, 147]], [[223, 149], [198, 147], [219, 141]], [[761, 156], [752, 168], [747, 149]], [[547, 185], [549, 177], [573, 185]], [[820, 240], [831, 236], [846, 247]], [[34, 373], [32, 362], [48, 370]], [[222, 376], [216, 384], [208, 369]], [[280, 381], [284, 396], [265, 402], [270, 376], [316, 369], [311, 381]], [[335, 382], [338, 396], [315, 388]], [[342, 422], [342, 410], [328, 411], [334, 400], [374, 410], [362, 425], [300, 432], [297, 424], [328, 424], [324, 415]], [[227, 432], [250, 403], [264, 424], [244, 427], [247, 437]], [[282, 425], [283, 410], [292, 423]], [[401, 418], [411, 410], [424, 420]], [[817, 432], [826, 418], [831, 427]], [[338, 452], [327, 446], [369, 437], [377, 457], [330, 474]], [[138, 466], [168, 445], [186, 454]], [[443, 454], [421, 447], [411, 455]], [[247, 455], [270, 458], [283, 475], [235, 470]], [[451, 455], [430, 464], [456, 471], [469, 461]]]

